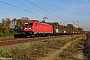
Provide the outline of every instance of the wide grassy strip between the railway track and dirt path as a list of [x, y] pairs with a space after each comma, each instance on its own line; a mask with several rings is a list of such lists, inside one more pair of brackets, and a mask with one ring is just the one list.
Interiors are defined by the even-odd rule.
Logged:
[[46, 56], [50, 51], [60, 49], [65, 43], [74, 40], [80, 35], [62, 38], [54, 38], [45, 41], [26, 43], [13, 48], [0, 49], [0, 57], [12, 58], [12, 60], [36, 60]]

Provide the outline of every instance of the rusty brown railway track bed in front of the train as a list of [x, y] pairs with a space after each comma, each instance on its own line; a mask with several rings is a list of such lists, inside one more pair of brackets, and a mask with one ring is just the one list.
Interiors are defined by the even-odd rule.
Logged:
[[33, 41], [41, 41], [47, 40], [51, 38], [59, 38], [59, 37], [66, 37], [68, 35], [60, 35], [60, 36], [47, 36], [47, 37], [34, 37], [34, 38], [12, 38], [12, 39], [3, 39], [0, 40], [0, 46], [12, 45], [12, 44], [19, 44], [25, 42], [33, 42]]

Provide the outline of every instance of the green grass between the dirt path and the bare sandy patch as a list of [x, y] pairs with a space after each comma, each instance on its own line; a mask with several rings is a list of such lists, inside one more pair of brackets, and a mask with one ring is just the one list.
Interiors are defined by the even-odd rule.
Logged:
[[76, 54], [78, 53], [78, 47], [82, 43], [82, 40], [73, 42], [67, 49], [65, 49], [60, 55], [55, 57], [54, 60], [77, 60]]

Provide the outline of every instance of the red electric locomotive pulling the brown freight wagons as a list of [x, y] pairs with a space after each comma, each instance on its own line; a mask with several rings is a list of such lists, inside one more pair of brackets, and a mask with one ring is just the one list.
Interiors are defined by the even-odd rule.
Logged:
[[22, 36], [31, 37], [33, 35], [53, 35], [53, 26], [50, 24], [40, 23], [38, 20], [25, 20], [22, 25]]

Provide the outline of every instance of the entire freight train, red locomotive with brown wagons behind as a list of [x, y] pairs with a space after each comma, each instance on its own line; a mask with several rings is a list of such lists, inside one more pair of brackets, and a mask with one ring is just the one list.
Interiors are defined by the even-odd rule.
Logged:
[[22, 33], [15, 34], [14, 37], [32, 37], [32, 36], [47, 36], [61, 34], [76, 34], [82, 33], [82, 29], [75, 29], [68, 26], [55, 25], [54, 23], [40, 23], [38, 20], [24, 20], [22, 25]]

